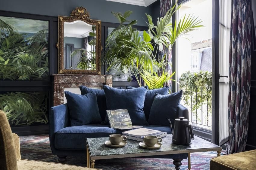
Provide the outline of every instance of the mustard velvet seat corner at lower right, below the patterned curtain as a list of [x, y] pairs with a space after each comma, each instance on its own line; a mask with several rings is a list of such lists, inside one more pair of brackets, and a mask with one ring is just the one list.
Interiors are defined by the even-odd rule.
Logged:
[[256, 169], [256, 150], [233, 153], [230, 155], [212, 158], [210, 170], [249, 170]]

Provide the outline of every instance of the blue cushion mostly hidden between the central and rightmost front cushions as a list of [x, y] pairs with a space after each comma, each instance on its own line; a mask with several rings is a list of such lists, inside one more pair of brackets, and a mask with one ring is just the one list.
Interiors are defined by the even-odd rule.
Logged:
[[[143, 86], [146, 89], [148, 89], [148, 86]], [[126, 86], [126, 89], [133, 89], [135, 87], [131, 86]], [[152, 106], [152, 103], [154, 101], [155, 95], [156, 94], [161, 94], [161, 95], [167, 95], [169, 90], [169, 86], [165, 86], [159, 89], [153, 89], [153, 90], [148, 90], [145, 96], [145, 102], [144, 102], [144, 108], [143, 111], [145, 113], [146, 120], [148, 120], [150, 109]]]

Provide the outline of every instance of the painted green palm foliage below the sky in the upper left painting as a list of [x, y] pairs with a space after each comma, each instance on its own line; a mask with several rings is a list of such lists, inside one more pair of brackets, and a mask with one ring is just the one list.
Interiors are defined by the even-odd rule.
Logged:
[[0, 20], [0, 79], [42, 80], [48, 76], [48, 30], [32, 36]]

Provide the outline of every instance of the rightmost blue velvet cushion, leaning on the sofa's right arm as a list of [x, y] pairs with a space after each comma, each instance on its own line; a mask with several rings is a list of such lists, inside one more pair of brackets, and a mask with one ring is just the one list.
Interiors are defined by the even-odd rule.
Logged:
[[[148, 123], [150, 125], [169, 126], [168, 119], [178, 118], [178, 105], [182, 90], [169, 95], [157, 94], [151, 106]], [[172, 121], [173, 122], [173, 121]]]

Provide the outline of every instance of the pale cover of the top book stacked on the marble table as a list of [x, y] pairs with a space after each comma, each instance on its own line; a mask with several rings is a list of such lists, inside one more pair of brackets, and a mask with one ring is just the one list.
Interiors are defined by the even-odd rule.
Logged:
[[125, 131], [125, 132], [123, 132], [123, 134], [142, 138], [142, 137], [147, 136], [147, 135], [154, 135], [158, 132], [161, 132], [161, 131], [153, 130], [153, 129], [147, 129], [147, 128], [139, 128], [139, 129], [133, 129], [133, 130]]

